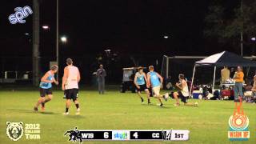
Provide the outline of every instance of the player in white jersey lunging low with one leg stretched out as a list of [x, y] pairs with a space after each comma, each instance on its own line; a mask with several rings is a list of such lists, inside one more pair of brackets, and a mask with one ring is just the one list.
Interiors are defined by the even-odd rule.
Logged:
[[176, 83], [176, 86], [178, 87], [178, 92], [174, 92], [173, 96], [176, 100], [176, 103], [174, 106], [180, 106], [178, 97], [181, 98], [181, 101], [184, 102], [185, 106], [198, 106], [198, 102], [195, 103], [188, 103], [186, 99], [190, 96], [189, 88], [187, 86], [187, 82], [185, 80], [184, 74], [178, 75], [179, 82]]

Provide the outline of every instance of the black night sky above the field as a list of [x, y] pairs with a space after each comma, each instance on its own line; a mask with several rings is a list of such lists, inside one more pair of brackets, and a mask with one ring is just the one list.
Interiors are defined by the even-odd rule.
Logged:
[[[212, 1], [60, 0], [59, 34], [68, 39], [65, 44], [60, 42], [61, 60], [78, 57], [93, 61], [107, 49], [121, 58], [210, 55], [223, 50], [239, 54], [234, 47], [219, 47], [204, 38], [204, 18]], [[225, 2], [227, 8], [238, 4]], [[54, 60], [55, 55], [56, 1], [41, 0], [40, 5], [40, 26], [50, 26], [50, 30], [40, 28], [40, 57], [46, 63]], [[33, 10], [32, 0], [2, 2], [0, 56], [30, 60], [33, 16], [28, 16], [24, 24], [11, 25], [8, 21], [18, 6], [30, 6]], [[169, 38], [163, 38], [164, 35]], [[90, 63], [93, 62], [87, 62], [88, 68]]]

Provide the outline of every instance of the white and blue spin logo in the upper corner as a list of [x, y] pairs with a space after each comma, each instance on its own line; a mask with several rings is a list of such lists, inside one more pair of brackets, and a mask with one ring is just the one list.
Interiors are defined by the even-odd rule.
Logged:
[[15, 14], [10, 14], [8, 18], [11, 24], [16, 24], [17, 22], [25, 23], [26, 20], [24, 20], [23, 18], [28, 17], [29, 14], [33, 14], [33, 11], [31, 10], [30, 6], [24, 6], [23, 8], [16, 7], [14, 11]]

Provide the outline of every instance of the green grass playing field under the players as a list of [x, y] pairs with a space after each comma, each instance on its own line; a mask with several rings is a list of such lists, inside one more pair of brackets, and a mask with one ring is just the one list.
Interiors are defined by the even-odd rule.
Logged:
[[[153, 98], [154, 105], [143, 105], [137, 94], [130, 92], [122, 94], [118, 90], [109, 90], [105, 95], [98, 95], [95, 90], [81, 90], [81, 115], [74, 115], [75, 106], [72, 103], [70, 115], [66, 116], [62, 115], [65, 110], [62, 94], [60, 90], [54, 91], [54, 99], [46, 103], [46, 112], [34, 113], [33, 106], [38, 99], [37, 90], [1, 90], [0, 143], [72, 143], [63, 134], [66, 130], [74, 129], [74, 126], [83, 130], [190, 130], [189, 141], [170, 143], [242, 143], [230, 142], [227, 138], [228, 119], [234, 111], [234, 102], [231, 101], [197, 100], [198, 107], [175, 107], [174, 100], [170, 100], [164, 102], [164, 107], [160, 107], [156, 106], [158, 102]], [[256, 143], [256, 105], [243, 103], [243, 108], [250, 118], [250, 140], [245, 143]], [[28, 141], [23, 136], [17, 142], [10, 141], [6, 136], [6, 121], [39, 123], [41, 139]]]

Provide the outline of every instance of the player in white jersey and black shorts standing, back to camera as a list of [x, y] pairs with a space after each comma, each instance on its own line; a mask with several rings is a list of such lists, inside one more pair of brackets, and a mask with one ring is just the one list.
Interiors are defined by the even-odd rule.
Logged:
[[77, 107], [76, 114], [80, 114], [80, 108], [78, 103], [78, 82], [80, 81], [80, 72], [78, 67], [73, 66], [71, 58], [66, 59], [67, 66], [64, 69], [62, 78], [62, 90], [65, 90], [66, 94], [66, 112], [69, 114], [70, 100], [72, 99], [75, 106]]

